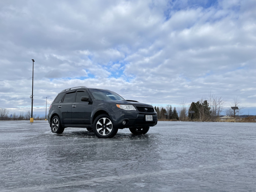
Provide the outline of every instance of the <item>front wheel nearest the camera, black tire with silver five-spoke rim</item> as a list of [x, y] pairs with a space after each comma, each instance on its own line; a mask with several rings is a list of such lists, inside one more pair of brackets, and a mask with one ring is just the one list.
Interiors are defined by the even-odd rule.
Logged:
[[98, 138], [112, 138], [117, 131], [107, 114], [99, 115], [93, 122], [93, 132]]

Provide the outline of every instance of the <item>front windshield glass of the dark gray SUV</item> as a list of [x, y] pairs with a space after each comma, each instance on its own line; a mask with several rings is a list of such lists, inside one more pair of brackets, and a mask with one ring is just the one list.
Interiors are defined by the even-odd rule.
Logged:
[[124, 100], [123, 97], [117, 95], [116, 93], [108, 90], [100, 90], [100, 89], [89, 89], [92, 93], [94, 99], [99, 100]]

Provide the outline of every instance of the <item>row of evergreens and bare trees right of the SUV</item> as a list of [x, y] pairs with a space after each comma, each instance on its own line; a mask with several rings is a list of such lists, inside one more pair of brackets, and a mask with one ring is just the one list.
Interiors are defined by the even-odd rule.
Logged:
[[[241, 105], [238, 96], [234, 97], [233, 101], [229, 103], [230, 107], [225, 106], [226, 102], [227, 100], [223, 99], [222, 96], [219, 97], [209, 92], [208, 97], [202, 97], [197, 102], [192, 102], [190, 105], [188, 105], [186, 100], [183, 98], [178, 110], [176, 110], [175, 107], [172, 110], [171, 105], [166, 105], [165, 108], [162, 106], [155, 106], [154, 108], [159, 120], [218, 121], [219, 117], [223, 113], [233, 118], [236, 118], [242, 113], [241, 109], [244, 107]], [[231, 106], [236, 106], [239, 109], [234, 111], [231, 109]], [[165, 113], [168, 113], [168, 115], [164, 115]]]

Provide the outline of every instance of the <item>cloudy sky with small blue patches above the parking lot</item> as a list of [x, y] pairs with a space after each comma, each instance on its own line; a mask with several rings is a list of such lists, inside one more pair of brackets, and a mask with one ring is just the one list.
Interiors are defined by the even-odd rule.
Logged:
[[87, 86], [159, 106], [238, 96], [256, 115], [255, 10], [254, 0], [0, 1], [0, 107], [31, 110], [34, 59], [34, 114]]

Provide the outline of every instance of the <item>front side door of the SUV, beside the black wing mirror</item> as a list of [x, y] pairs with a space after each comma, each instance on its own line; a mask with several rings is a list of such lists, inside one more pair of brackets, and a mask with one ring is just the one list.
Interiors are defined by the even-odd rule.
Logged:
[[81, 101], [82, 96], [89, 96], [86, 90], [77, 90], [75, 102], [72, 104], [72, 124], [90, 124], [92, 103]]

